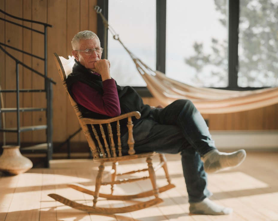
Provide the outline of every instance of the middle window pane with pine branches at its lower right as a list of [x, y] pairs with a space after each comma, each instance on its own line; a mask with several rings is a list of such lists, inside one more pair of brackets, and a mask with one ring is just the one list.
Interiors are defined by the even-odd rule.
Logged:
[[166, 76], [201, 87], [227, 87], [226, 1], [167, 1]]

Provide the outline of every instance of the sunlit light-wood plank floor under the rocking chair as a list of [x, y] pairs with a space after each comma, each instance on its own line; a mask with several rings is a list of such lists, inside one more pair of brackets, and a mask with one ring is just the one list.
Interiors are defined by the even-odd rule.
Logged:
[[[67, 184], [75, 182], [93, 187], [92, 178], [96, 175], [97, 167], [91, 160], [55, 160], [50, 169], [31, 169], [17, 176], [0, 173], [0, 221], [278, 220], [278, 152], [247, 152], [246, 160], [238, 168], [209, 175], [209, 190], [214, 193], [210, 199], [234, 209], [233, 214], [224, 216], [189, 214], [180, 156], [166, 156], [176, 188], [160, 195], [164, 202], [144, 210], [111, 216], [87, 214], [47, 196], [49, 193], [58, 193], [90, 205], [91, 196], [72, 190]], [[141, 163], [138, 161], [137, 166]], [[122, 169], [134, 166], [126, 164]], [[159, 170], [157, 173], [159, 184], [164, 183], [161, 172]], [[150, 186], [149, 181], [123, 185], [117, 187], [117, 193], [136, 192]], [[102, 200], [99, 203], [108, 207], [126, 205], [119, 201]]]

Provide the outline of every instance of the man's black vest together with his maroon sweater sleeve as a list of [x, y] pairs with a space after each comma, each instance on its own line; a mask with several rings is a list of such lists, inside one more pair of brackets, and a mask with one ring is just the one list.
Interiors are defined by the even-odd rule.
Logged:
[[[114, 79], [102, 82], [101, 76], [91, 73], [76, 60], [66, 82], [69, 94], [85, 118], [106, 119], [132, 111], [140, 112], [140, 119], [149, 116], [150, 106], [143, 103], [132, 87], [121, 87]], [[133, 120], [134, 125], [139, 121]], [[126, 124], [121, 121], [120, 125]]]

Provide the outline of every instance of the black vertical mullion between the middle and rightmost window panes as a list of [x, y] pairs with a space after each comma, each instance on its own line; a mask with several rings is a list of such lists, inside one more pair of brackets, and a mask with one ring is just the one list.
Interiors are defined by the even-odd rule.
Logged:
[[229, 34], [228, 34], [228, 76], [230, 89], [238, 88], [238, 25], [239, 0], [228, 0]]

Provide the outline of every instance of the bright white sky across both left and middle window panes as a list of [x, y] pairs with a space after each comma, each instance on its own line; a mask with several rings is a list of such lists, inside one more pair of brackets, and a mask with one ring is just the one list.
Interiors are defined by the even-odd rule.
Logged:
[[[155, 0], [110, 0], [109, 25], [121, 41], [137, 57], [155, 69]], [[167, 55], [166, 74], [181, 82], [192, 84], [194, 69], [185, 64], [185, 58], [194, 52], [193, 44], [203, 42], [210, 46], [211, 37], [224, 39], [226, 28], [218, 22], [213, 0], [167, 1]], [[144, 86], [135, 65], [119, 42], [108, 35], [108, 59], [111, 74], [119, 85]], [[206, 70], [207, 71], [207, 70]]]

